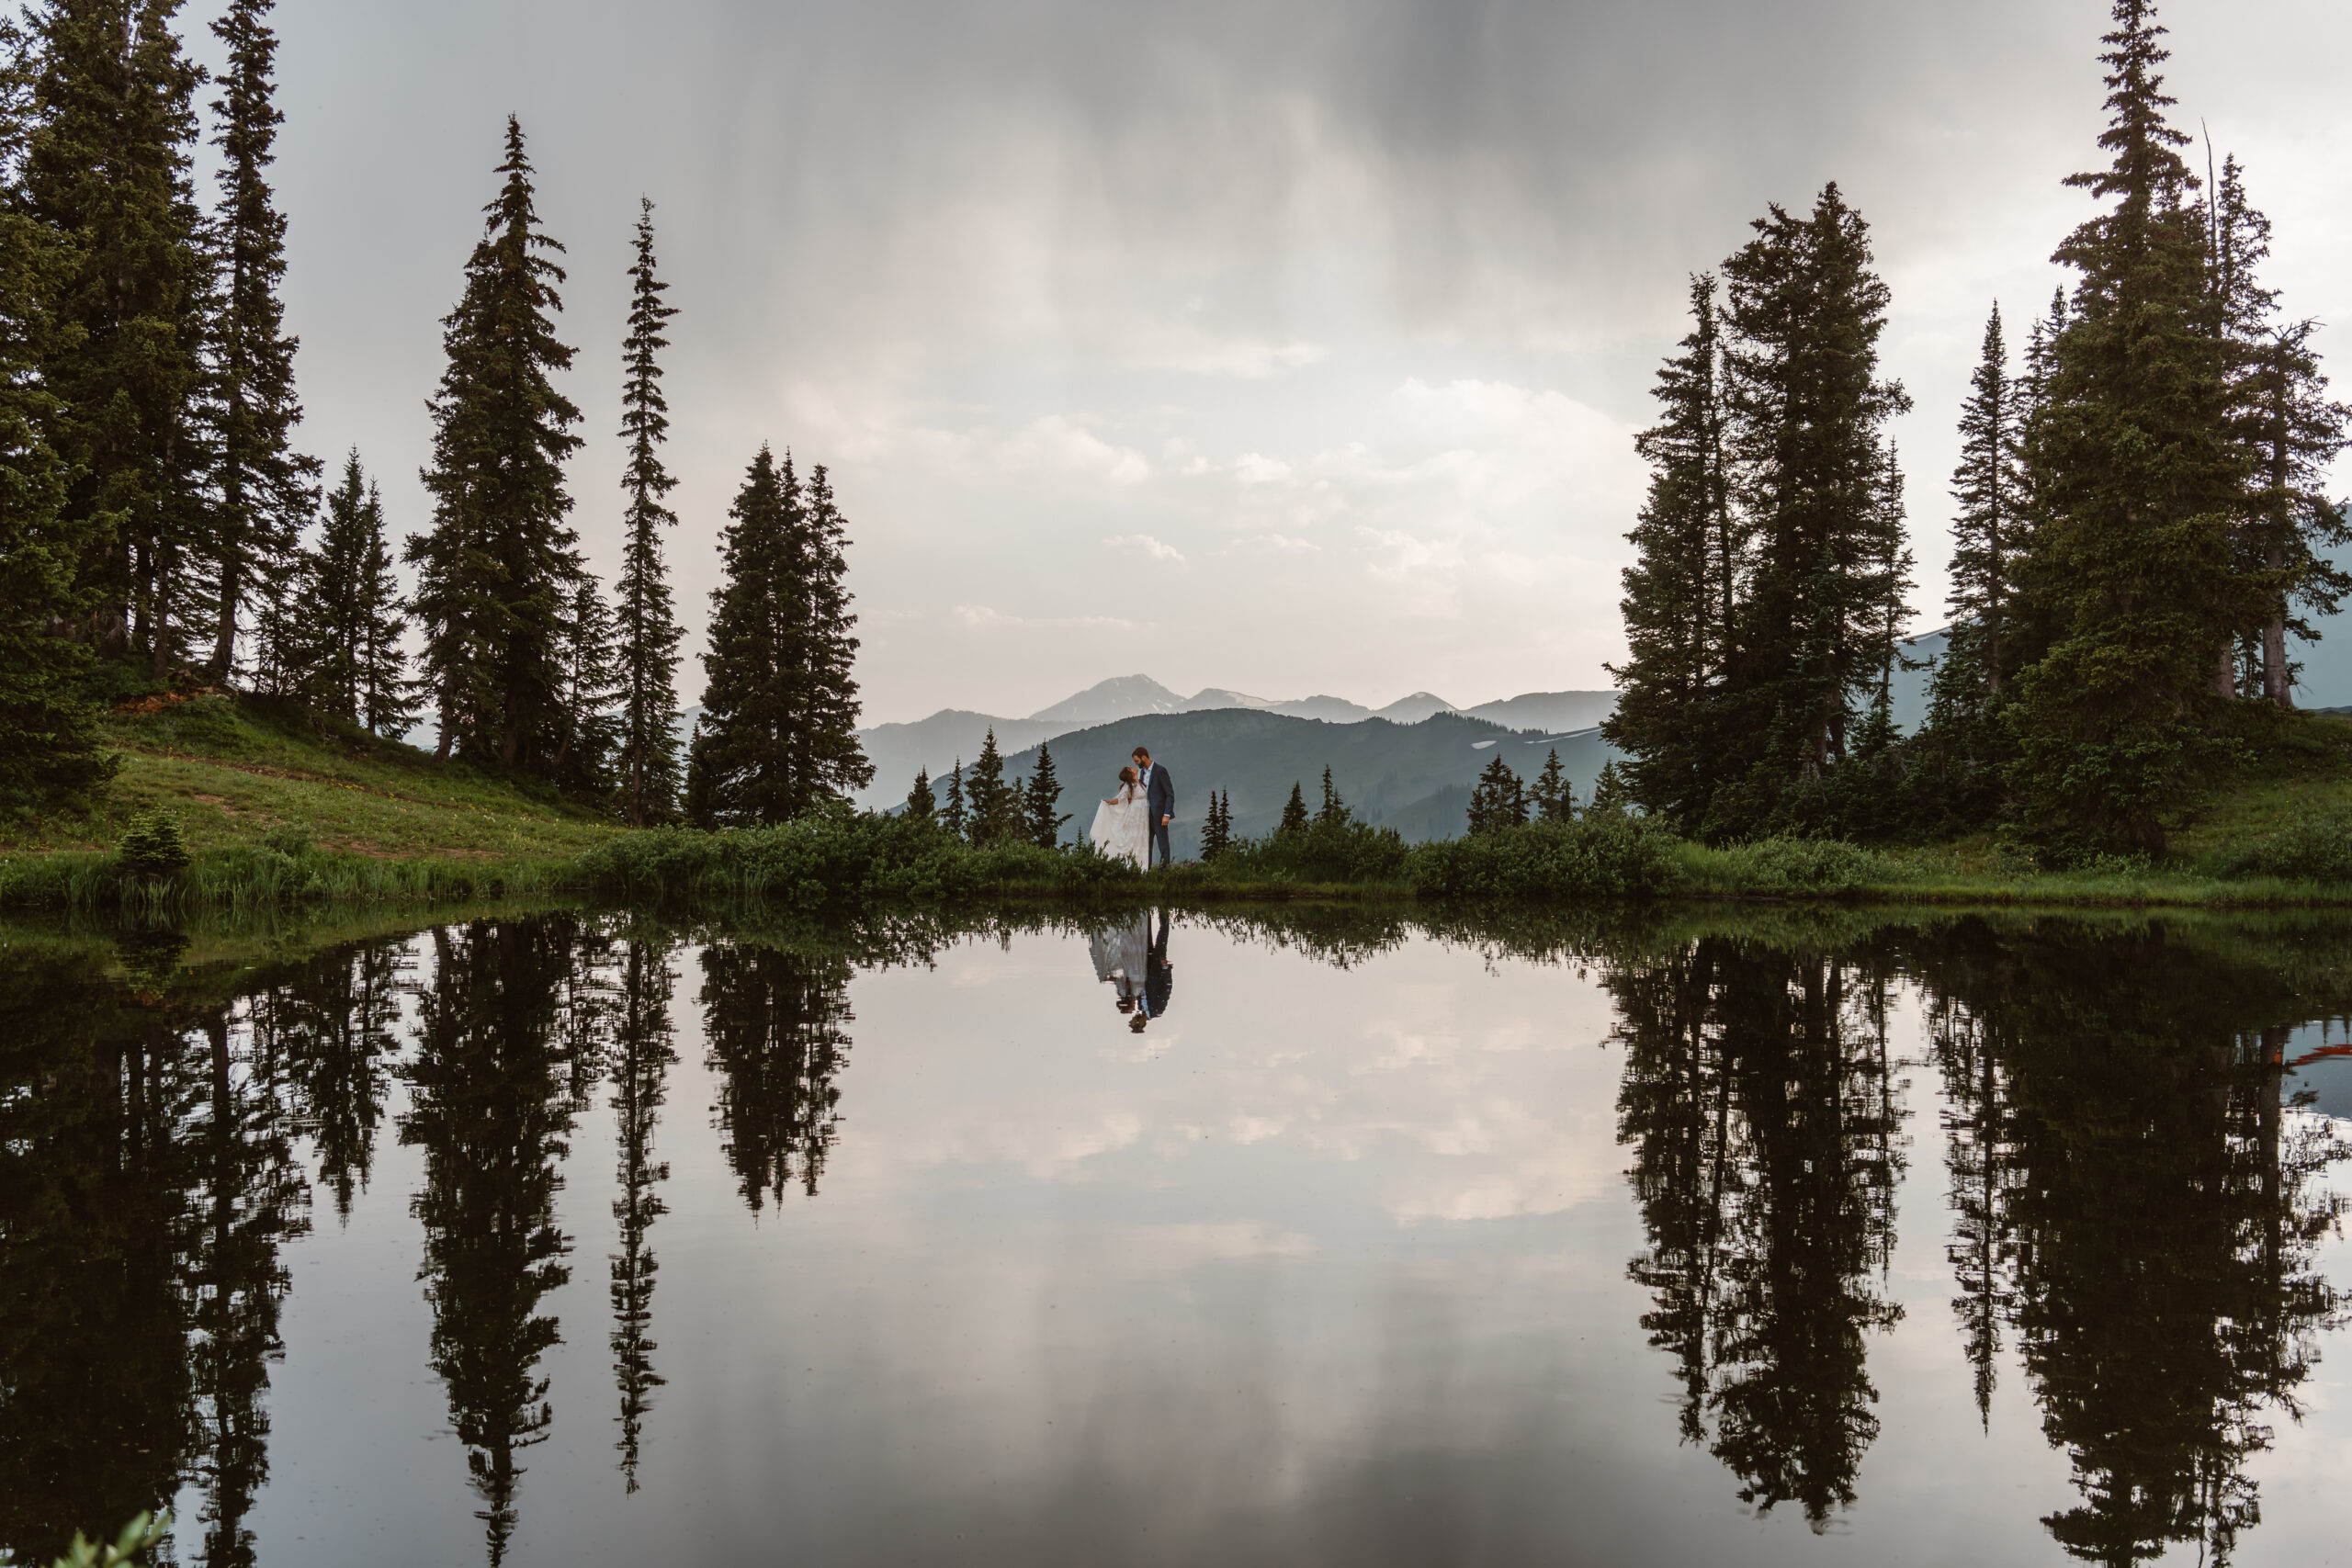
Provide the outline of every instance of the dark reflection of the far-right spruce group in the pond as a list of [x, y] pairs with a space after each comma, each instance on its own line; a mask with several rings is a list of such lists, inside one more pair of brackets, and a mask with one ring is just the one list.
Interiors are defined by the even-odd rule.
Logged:
[[2279, 1103], [2298, 997], [2161, 926], [1971, 924], [1924, 969], [1971, 1349], [2016, 1328], [2082, 1490], [2044, 1523], [2096, 1563], [2173, 1542], [2227, 1561], [2260, 1519], [2246, 1460], [2343, 1321], [2312, 1253], [2343, 1208], [2319, 1178], [2347, 1150]]

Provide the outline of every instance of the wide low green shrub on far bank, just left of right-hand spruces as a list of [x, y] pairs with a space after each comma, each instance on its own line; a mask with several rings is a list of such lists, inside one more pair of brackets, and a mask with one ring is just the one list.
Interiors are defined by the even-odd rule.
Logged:
[[1425, 898], [1646, 898], [1675, 884], [1675, 835], [1642, 816], [1526, 823], [1414, 851]]

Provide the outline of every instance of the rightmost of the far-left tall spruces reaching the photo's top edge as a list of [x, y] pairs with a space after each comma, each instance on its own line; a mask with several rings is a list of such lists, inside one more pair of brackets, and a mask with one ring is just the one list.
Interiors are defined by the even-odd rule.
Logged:
[[268, 186], [278, 113], [273, 66], [275, 0], [230, 0], [212, 24], [228, 45], [228, 71], [212, 113], [221, 148], [221, 202], [212, 235], [219, 256], [209, 331], [214, 404], [212, 670], [238, 665], [247, 604], [285, 592], [294, 548], [315, 505], [318, 461], [294, 451], [301, 402], [294, 393], [296, 341], [285, 331], [287, 221]]

